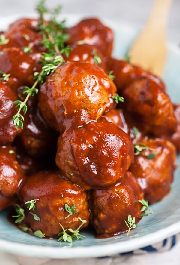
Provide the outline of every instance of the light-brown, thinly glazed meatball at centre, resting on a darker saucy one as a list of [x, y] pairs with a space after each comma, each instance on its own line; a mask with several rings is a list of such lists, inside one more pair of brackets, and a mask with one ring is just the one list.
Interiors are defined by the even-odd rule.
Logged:
[[[76, 118], [78, 125], [99, 119], [116, 106], [116, 86], [98, 66], [67, 62], [50, 74], [41, 86], [39, 107], [49, 126], [62, 132], [64, 120]], [[88, 116], [81, 121], [79, 113]]]

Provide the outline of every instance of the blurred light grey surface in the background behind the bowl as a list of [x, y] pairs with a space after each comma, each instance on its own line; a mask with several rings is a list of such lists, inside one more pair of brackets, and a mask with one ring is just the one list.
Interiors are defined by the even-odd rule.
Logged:
[[[1, 15], [31, 14], [37, 0], [0, 0]], [[62, 13], [104, 17], [142, 29], [153, 0], [46, 0], [49, 8], [61, 5]], [[180, 44], [180, 0], [173, 0], [167, 30], [168, 42]]]

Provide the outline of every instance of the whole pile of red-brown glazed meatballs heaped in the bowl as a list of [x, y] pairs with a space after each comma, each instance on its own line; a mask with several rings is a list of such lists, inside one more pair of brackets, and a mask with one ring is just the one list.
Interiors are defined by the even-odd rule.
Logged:
[[[129, 215], [136, 224], [142, 218], [139, 200], [152, 204], [170, 191], [180, 105], [171, 102], [161, 79], [112, 57], [112, 30], [88, 18], [65, 30], [69, 56], [29, 98], [24, 128], [16, 129], [13, 102], [25, 99], [22, 91], [35, 82], [46, 52], [38, 24], [17, 20], [0, 45], [0, 71], [9, 74], [7, 80], [0, 74], [0, 210], [20, 205], [25, 218], [17, 225], [47, 238], [62, 231], [59, 223], [76, 230], [80, 218], [87, 221], [82, 228], [93, 227], [99, 237], [124, 233]], [[124, 102], [116, 103], [117, 94]], [[135, 155], [139, 143], [149, 148]], [[29, 210], [31, 200], [36, 203]], [[65, 204], [74, 204], [76, 214], [66, 218]]]

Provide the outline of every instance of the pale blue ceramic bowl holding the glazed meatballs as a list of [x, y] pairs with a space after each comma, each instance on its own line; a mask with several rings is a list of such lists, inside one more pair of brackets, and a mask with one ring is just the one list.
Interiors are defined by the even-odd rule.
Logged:
[[[25, 15], [29, 17], [29, 15]], [[17, 19], [0, 18], [0, 27]], [[82, 17], [65, 16], [71, 25]], [[111, 21], [103, 22], [115, 33], [114, 55], [123, 58], [127, 54], [137, 30]], [[180, 103], [180, 51], [169, 46], [163, 77], [168, 93], [174, 103]], [[180, 156], [177, 164], [180, 165]], [[17, 229], [7, 220], [8, 210], [0, 212], [0, 250], [10, 253], [48, 258], [103, 257], [125, 252], [139, 253], [171, 248], [180, 232], [180, 168], [177, 168], [169, 195], [152, 206], [154, 214], [144, 217], [130, 235], [122, 234], [113, 238], [96, 239], [93, 232], [84, 232], [83, 240], [73, 244], [59, 243], [57, 240], [40, 239]]]

